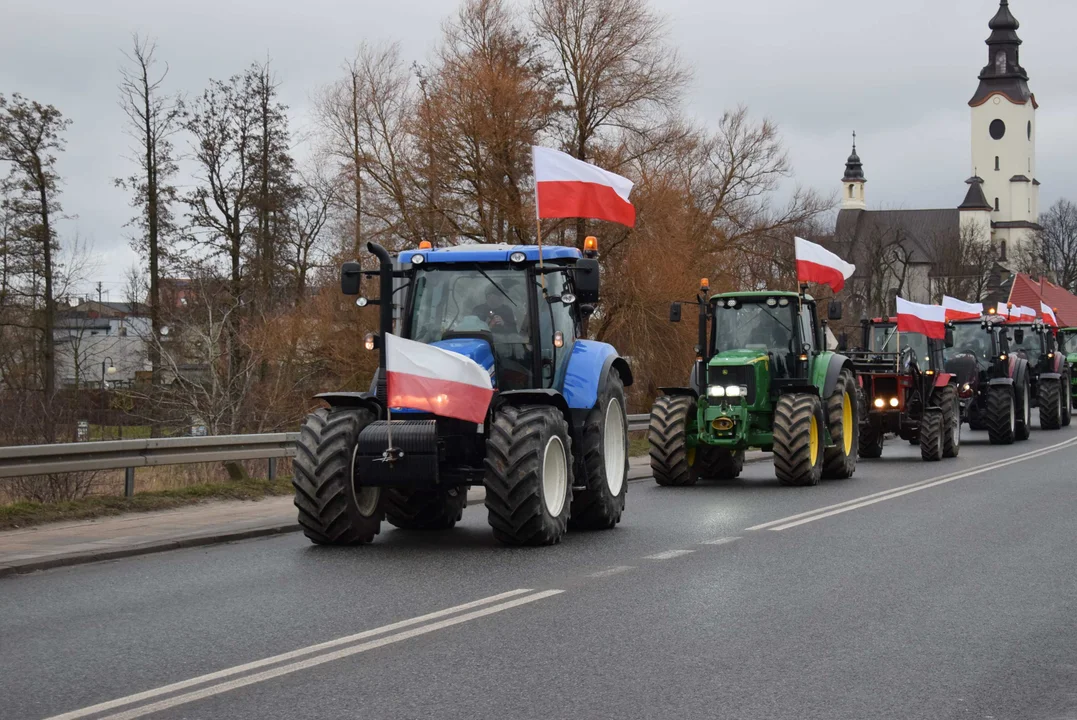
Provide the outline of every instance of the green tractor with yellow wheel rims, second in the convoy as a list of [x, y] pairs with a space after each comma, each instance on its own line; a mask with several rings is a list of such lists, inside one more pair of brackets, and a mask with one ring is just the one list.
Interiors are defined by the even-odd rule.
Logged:
[[[687, 387], [662, 387], [651, 410], [651, 468], [660, 485], [740, 475], [744, 451], [773, 452], [784, 485], [849, 478], [859, 403], [852, 362], [826, 350], [814, 298], [791, 292], [696, 297], [699, 344]], [[829, 320], [841, 319], [831, 301]], [[670, 308], [681, 321], [681, 303]], [[710, 326], [710, 331], [708, 331]]]

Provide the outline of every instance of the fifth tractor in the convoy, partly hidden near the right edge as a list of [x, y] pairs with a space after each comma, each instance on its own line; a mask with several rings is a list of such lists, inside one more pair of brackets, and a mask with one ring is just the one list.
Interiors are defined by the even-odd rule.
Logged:
[[1043, 321], [1010, 325], [1012, 352], [1029, 363], [1032, 397], [1039, 408], [1039, 427], [1057, 430], [1069, 425], [1069, 366], [1055, 330]]

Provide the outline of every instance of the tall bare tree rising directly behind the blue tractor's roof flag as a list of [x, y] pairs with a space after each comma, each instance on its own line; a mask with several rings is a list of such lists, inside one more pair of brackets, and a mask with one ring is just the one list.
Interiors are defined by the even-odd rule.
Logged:
[[[531, 16], [559, 69], [564, 142], [576, 158], [595, 156], [604, 129], [648, 135], [677, 105], [690, 75], [646, 0], [533, 0]], [[586, 234], [581, 220], [581, 248]]]

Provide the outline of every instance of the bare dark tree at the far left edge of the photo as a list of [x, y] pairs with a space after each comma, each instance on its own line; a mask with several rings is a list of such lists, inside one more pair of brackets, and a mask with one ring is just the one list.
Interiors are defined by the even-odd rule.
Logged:
[[[59, 173], [56, 155], [64, 151], [61, 133], [70, 125], [59, 110], [27, 100], [19, 94], [0, 95], [0, 161], [11, 165], [3, 181], [11, 207], [24, 224], [25, 237], [40, 258], [42, 280], [42, 323], [40, 349], [43, 358], [41, 386], [51, 403], [56, 389], [56, 356], [53, 328], [56, 324], [54, 296], [55, 218], [60, 212]], [[51, 433], [50, 433], [51, 435]]]

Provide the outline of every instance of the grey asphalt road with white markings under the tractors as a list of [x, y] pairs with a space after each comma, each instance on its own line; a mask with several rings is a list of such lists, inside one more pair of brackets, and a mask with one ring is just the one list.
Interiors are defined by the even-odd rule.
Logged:
[[966, 428], [811, 489], [635, 482], [553, 548], [478, 506], [13, 576], [0, 717], [1077, 718], [1075, 467], [1077, 426]]

